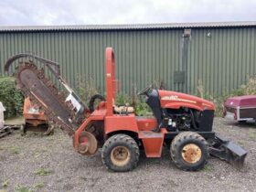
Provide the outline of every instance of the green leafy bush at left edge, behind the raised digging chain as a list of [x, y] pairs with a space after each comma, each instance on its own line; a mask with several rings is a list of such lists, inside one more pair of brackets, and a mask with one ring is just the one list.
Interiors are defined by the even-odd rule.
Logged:
[[15, 79], [0, 78], [0, 101], [5, 106], [5, 118], [22, 115], [24, 97], [21, 91], [16, 90]]

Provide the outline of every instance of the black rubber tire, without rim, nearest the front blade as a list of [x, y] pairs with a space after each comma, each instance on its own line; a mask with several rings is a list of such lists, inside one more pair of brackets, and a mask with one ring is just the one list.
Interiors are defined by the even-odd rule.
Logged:
[[[196, 144], [201, 150], [201, 158], [194, 164], [188, 163], [182, 157], [182, 149], [186, 144]], [[171, 144], [170, 152], [175, 165], [185, 171], [197, 171], [208, 162], [208, 143], [198, 133], [183, 132], [176, 135]]]

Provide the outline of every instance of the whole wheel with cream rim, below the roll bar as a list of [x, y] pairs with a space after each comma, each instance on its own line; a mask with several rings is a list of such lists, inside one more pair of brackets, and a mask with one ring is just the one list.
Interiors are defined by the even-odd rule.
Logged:
[[137, 166], [138, 144], [127, 134], [115, 134], [102, 147], [101, 158], [108, 169], [115, 172], [131, 171]]

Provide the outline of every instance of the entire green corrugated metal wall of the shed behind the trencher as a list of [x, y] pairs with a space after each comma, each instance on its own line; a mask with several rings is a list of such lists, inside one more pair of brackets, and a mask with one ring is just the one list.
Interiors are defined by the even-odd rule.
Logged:
[[[12, 55], [32, 51], [61, 65], [63, 77], [90, 76], [104, 91], [104, 49], [115, 50], [117, 79], [123, 92], [144, 88], [154, 80], [165, 89], [197, 93], [202, 80], [210, 94], [221, 94], [256, 73], [255, 27], [192, 28], [187, 54], [184, 29], [105, 30], [0, 33], [0, 64]], [[183, 59], [187, 57], [187, 63]], [[174, 82], [175, 71], [185, 70], [186, 85]]]

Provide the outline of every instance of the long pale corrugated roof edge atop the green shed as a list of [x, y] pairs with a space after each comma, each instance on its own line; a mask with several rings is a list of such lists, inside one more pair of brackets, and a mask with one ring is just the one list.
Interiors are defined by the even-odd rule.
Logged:
[[74, 26], [14, 26], [0, 27], [5, 31], [78, 31], [78, 30], [136, 30], [136, 29], [170, 29], [170, 28], [204, 28], [204, 27], [255, 27], [256, 21], [240, 22], [201, 22], [201, 23], [162, 23], [162, 24], [126, 24], [126, 25], [74, 25]]

